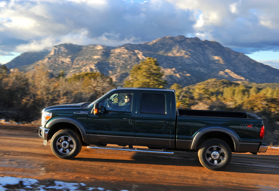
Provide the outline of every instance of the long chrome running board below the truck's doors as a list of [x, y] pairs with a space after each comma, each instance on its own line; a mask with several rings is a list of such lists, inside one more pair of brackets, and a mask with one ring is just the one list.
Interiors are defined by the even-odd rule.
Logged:
[[87, 146], [88, 149], [104, 149], [104, 150], [119, 150], [128, 152], [145, 152], [145, 153], [160, 153], [160, 154], [173, 154], [172, 151], [164, 151], [160, 149], [142, 149], [129, 147], [116, 147], [116, 146]]

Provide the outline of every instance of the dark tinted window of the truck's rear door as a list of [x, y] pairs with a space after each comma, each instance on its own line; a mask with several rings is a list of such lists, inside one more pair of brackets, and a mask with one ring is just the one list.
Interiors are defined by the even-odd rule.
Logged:
[[166, 114], [166, 96], [159, 93], [142, 93], [141, 113]]

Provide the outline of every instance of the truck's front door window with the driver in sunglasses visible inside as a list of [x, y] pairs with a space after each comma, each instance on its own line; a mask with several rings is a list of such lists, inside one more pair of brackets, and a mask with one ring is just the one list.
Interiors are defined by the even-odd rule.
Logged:
[[131, 112], [132, 98], [132, 93], [113, 93], [99, 102], [99, 106], [104, 106], [106, 112]]

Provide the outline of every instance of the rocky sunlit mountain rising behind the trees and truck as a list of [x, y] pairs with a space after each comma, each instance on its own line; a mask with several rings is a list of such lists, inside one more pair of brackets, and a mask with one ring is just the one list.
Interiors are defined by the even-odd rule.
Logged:
[[[278, 69], [258, 63], [218, 42], [184, 36], [162, 37], [151, 42], [117, 47], [61, 44], [53, 46], [51, 52], [40, 61], [30, 61], [30, 65], [25, 65], [25, 70], [43, 63], [54, 75], [61, 70], [66, 77], [78, 72], [101, 72], [110, 76], [116, 85], [123, 85], [133, 65], [146, 57], [157, 59], [169, 86], [179, 83], [184, 87], [210, 78], [279, 83]], [[19, 57], [15, 59], [18, 66], [14, 64], [13, 67], [20, 68]], [[15, 63], [14, 60], [11, 62]], [[6, 66], [11, 69], [10, 63]]]

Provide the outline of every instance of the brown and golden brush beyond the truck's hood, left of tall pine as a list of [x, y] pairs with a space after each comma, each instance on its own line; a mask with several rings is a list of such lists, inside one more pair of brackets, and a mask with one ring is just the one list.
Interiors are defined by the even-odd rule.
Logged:
[[66, 79], [63, 72], [52, 77], [43, 65], [24, 73], [0, 68], [0, 117], [15, 121], [40, 118], [43, 108], [67, 102], [92, 102], [115, 88], [112, 79], [82, 72]]

